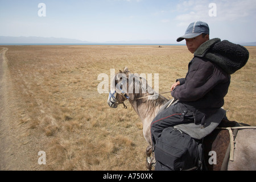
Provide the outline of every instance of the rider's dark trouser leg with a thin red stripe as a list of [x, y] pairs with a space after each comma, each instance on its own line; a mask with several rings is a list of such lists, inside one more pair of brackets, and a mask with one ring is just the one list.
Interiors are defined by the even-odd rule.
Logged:
[[161, 133], [167, 127], [193, 121], [193, 113], [183, 104], [177, 103], [158, 113], [151, 123], [152, 146], [161, 137]]

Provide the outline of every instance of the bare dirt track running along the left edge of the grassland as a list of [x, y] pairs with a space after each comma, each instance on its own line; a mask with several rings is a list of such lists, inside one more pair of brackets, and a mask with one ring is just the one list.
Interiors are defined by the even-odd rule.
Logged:
[[0, 171], [40, 169], [36, 152], [26, 127], [19, 123], [19, 111], [5, 53], [0, 48]]

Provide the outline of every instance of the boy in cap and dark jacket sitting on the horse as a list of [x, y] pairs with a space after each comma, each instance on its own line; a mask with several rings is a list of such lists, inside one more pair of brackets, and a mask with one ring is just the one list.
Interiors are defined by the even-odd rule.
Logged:
[[[167, 127], [195, 123], [204, 128], [208, 118], [218, 113], [224, 105], [230, 75], [242, 68], [249, 59], [245, 47], [227, 40], [209, 39], [209, 26], [205, 22], [189, 24], [185, 35], [177, 42], [184, 39], [194, 57], [188, 64], [185, 78], [177, 79], [171, 86], [171, 95], [176, 98], [176, 104], [158, 113], [151, 123], [153, 150]], [[223, 117], [217, 115], [220, 121]], [[156, 152], [155, 170], [162, 170], [165, 166], [157, 162], [159, 157]]]

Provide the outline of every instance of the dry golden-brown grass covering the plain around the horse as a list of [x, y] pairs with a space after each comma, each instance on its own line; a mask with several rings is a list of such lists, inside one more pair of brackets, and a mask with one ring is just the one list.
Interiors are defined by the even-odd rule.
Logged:
[[[110, 77], [110, 69], [127, 65], [134, 73], [159, 73], [159, 92], [164, 92], [185, 76], [192, 59], [185, 46], [8, 48], [15, 112], [24, 128], [19, 135], [39, 145], [32, 154], [38, 148], [46, 152], [47, 164], [39, 169], [53, 170], [146, 169], [140, 119], [130, 106], [110, 109], [108, 94], [97, 92], [97, 76]], [[230, 120], [255, 125], [256, 48], [247, 48], [249, 62], [232, 75], [224, 108]]]

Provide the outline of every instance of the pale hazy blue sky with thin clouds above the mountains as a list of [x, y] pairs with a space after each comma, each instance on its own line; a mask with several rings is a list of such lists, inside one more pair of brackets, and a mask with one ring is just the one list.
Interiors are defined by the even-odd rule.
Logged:
[[0, 0], [0, 36], [176, 43], [196, 20], [209, 24], [210, 38], [256, 42], [256, 0]]

